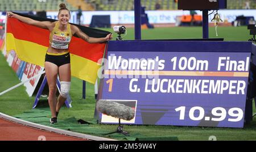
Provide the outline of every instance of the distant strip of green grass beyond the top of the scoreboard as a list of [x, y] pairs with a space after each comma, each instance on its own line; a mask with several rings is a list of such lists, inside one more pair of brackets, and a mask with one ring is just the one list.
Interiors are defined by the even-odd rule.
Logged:
[[[105, 29], [113, 32], [112, 29]], [[209, 38], [224, 38], [225, 41], [247, 41], [252, 36], [249, 35], [247, 27], [218, 27], [218, 36], [215, 28], [209, 27]], [[114, 33], [114, 37], [117, 34]], [[143, 40], [154, 39], [201, 39], [203, 37], [202, 27], [169, 27], [142, 29]], [[127, 36], [123, 40], [134, 40], [134, 29], [127, 28]]]

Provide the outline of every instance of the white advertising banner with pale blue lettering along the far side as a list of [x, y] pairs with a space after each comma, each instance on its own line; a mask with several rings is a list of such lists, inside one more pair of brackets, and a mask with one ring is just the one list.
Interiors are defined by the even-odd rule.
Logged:
[[[212, 11], [209, 11], [209, 14]], [[196, 11], [197, 15], [203, 15], [202, 11]], [[183, 10], [150, 10], [146, 11], [150, 24], [174, 24], [177, 22], [177, 16], [189, 15], [189, 11]], [[209, 22], [214, 14], [209, 15]], [[237, 16], [254, 16], [256, 19], [256, 10], [218, 10], [220, 18], [228, 22], [234, 22]], [[58, 12], [47, 12], [47, 18], [57, 19]], [[83, 11], [81, 24], [89, 25], [93, 15], [110, 15], [111, 24], [134, 24], [134, 11]], [[77, 23], [76, 12], [71, 12], [71, 23]]]

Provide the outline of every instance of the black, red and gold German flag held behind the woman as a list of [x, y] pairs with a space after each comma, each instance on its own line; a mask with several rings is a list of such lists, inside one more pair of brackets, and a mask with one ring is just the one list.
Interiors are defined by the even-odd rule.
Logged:
[[[16, 13], [16, 12], [15, 12]], [[16, 13], [18, 14], [18, 13]], [[18, 14], [39, 21], [55, 22], [53, 19], [38, 18], [36, 16]], [[75, 24], [76, 25], [76, 24]], [[105, 37], [110, 32], [76, 25], [90, 37]], [[20, 60], [31, 64], [44, 66], [44, 59], [49, 47], [49, 31], [20, 22], [15, 18], [7, 19], [6, 50], [15, 50]], [[72, 37], [69, 44], [71, 54], [71, 74], [84, 81], [95, 83], [100, 64], [98, 60], [104, 56], [106, 43], [89, 44]]]

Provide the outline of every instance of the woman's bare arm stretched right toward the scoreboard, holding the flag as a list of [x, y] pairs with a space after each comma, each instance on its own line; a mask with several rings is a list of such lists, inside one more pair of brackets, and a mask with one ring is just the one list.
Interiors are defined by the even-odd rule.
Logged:
[[107, 35], [106, 37], [100, 37], [100, 38], [95, 38], [95, 37], [89, 37], [86, 35], [84, 32], [81, 31], [80, 28], [76, 26], [71, 26], [72, 33], [77, 36], [79, 36], [82, 40], [85, 40], [88, 43], [104, 43], [105, 41], [109, 41], [112, 39], [112, 33]]

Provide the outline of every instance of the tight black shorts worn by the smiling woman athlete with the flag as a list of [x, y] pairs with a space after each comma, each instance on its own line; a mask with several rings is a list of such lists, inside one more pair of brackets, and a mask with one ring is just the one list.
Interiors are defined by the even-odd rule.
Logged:
[[52, 64], [57, 65], [58, 67], [65, 64], [70, 64], [70, 54], [66, 53], [60, 56], [49, 55], [46, 53], [46, 62], [51, 62]]

